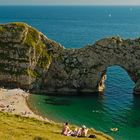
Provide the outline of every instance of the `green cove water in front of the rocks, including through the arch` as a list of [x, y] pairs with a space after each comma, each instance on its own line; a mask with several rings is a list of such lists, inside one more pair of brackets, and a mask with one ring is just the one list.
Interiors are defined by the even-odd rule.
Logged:
[[[115, 66], [108, 68], [103, 95], [31, 95], [29, 102], [32, 108], [52, 120], [85, 124], [116, 140], [140, 140], [140, 98], [133, 96], [133, 87], [127, 73]], [[113, 127], [119, 131], [111, 132]]]

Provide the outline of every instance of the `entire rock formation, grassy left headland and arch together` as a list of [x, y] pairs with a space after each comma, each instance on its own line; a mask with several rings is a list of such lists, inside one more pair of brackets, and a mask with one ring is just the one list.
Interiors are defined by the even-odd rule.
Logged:
[[106, 69], [118, 65], [140, 93], [140, 38], [105, 38], [65, 49], [24, 23], [0, 25], [0, 86], [44, 93], [104, 90]]

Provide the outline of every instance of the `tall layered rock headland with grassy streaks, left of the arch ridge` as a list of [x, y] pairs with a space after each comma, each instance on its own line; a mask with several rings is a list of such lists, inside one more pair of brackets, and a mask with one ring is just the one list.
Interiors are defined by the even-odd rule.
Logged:
[[0, 85], [40, 87], [59, 44], [24, 23], [0, 25]]

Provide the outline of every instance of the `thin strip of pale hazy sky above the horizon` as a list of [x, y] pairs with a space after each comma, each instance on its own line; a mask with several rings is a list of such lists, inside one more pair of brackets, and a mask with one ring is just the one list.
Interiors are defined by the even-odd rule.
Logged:
[[140, 0], [0, 0], [0, 5], [140, 5]]

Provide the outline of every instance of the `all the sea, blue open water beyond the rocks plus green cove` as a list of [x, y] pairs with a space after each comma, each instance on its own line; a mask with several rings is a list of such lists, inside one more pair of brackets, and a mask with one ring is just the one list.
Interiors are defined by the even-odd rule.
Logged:
[[[0, 23], [26, 22], [65, 48], [97, 40], [140, 37], [140, 6], [0, 6]], [[32, 94], [31, 108], [56, 122], [95, 128], [115, 140], [140, 140], [140, 97], [120, 66], [107, 69], [103, 94], [45, 96]], [[118, 128], [112, 132], [111, 128]]]

